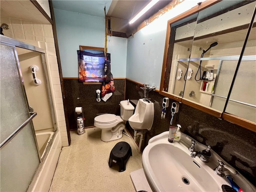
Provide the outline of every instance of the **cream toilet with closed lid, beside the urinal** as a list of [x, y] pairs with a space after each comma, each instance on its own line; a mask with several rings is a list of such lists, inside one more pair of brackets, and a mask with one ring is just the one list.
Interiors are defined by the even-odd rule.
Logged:
[[94, 126], [101, 129], [100, 139], [104, 142], [122, 138], [122, 131], [128, 119], [133, 115], [134, 106], [129, 101], [120, 102], [121, 116], [103, 114], [94, 118]]

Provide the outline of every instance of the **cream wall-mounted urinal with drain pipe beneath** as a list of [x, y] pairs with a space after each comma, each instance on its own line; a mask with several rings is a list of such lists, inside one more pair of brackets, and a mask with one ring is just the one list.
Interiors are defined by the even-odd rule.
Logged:
[[138, 153], [140, 153], [144, 135], [146, 131], [151, 129], [153, 120], [154, 104], [149, 100], [144, 101], [144, 99], [140, 99], [136, 105], [134, 114], [128, 120], [130, 126], [134, 129], [134, 141], [136, 141], [137, 136], [140, 136]]

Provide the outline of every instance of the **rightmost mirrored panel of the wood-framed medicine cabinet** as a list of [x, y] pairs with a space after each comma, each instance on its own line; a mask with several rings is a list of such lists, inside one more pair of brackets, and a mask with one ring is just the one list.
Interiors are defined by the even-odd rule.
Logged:
[[[224, 118], [231, 122], [247, 128], [251, 127], [250, 122], [256, 123], [256, 17], [252, 23], [252, 28], [248, 34], [248, 40], [238, 71], [234, 79], [234, 85], [231, 90], [230, 98], [227, 102]], [[241, 121], [239, 118], [248, 120]], [[242, 124], [241, 124], [242, 123]], [[255, 125], [254, 126], [255, 129]], [[251, 128], [251, 130], [254, 130]]]

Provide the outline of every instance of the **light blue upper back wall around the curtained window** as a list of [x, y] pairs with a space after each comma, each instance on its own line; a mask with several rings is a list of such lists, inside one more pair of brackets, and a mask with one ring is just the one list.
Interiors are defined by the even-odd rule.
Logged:
[[[104, 47], [105, 19], [54, 9], [63, 77], [78, 77], [76, 50], [79, 46]], [[111, 72], [114, 78], [126, 76], [127, 39], [108, 36]]]

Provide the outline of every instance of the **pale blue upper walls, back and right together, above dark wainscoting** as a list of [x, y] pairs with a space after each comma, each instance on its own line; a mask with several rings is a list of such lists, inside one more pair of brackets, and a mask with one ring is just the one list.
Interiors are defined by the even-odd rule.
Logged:
[[[136, 32], [133, 37], [108, 36], [111, 72], [114, 78], [129, 78], [160, 88], [168, 20], [196, 6], [182, 2]], [[181, 9], [179, 9], [181, 8]], [[104, 47], [104, 18], [54, 9], [63, 77], [78, 77], [76, 50], [79, 45]]]

